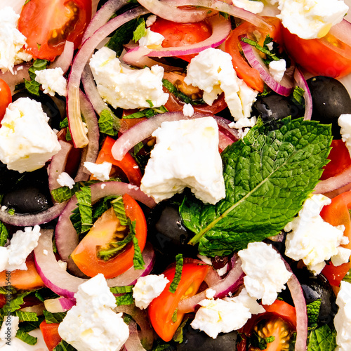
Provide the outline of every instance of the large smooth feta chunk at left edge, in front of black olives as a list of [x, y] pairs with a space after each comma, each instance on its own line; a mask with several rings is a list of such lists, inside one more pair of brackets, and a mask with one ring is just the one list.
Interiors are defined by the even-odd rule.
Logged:
[[0, 161], [8, 169], [35, 171], [60, 150], [40, 102], [19, 98], [8, 105], [0, 128]]

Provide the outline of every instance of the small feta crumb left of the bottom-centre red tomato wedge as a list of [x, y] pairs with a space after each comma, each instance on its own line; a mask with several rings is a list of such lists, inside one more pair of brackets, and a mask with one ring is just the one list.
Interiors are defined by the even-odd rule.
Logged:
[[135, 306], [139, 307], [141, 310], [147, 308], [151, 301], [164, 291], [168, 282], [169, 280], [164, 277], [164, 274], [149, 274], [145, 277], [138, 278], [133, 287]]

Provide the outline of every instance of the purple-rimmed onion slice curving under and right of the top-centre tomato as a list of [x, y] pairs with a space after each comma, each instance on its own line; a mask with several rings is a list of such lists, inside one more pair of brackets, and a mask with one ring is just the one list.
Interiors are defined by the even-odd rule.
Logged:
[[216, 48], [220, 46], [220, 44], [225, 41], [230, 30], [232, 29], [230, 25], [230, 20], [226, 20], [221, 15], [216, 15], [212, 18], [208, 19], [208, 24], [212, 27], [212, 34], [211, 37], [208, 37], [204, 41], [200, 41], [199, 43], [187, 45], [187, 46], [179, 46], [179, 47], [171, 47], [171, 48], [157, 48], [152, 51], [147, 49], [143, 46], [138, 46], [135, 49], [128, 51], [124, 55], [124, 60], [128, 61], [128, 55], [133, 55], [133, 60], [138, 62], [135, 59], [135, 55], [138, 55], [142, 58], [143, 55], [147, 55], [149, 57], [173, 57], [173, 56], [180, 56], [180, 55], [192, 55], [194, 53], [199, 53], [200, 51], [205, 50], [206, 48]]

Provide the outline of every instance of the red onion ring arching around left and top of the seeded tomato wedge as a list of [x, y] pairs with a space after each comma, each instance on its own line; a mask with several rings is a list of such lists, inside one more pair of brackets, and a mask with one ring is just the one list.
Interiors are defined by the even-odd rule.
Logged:
[[[151, 197], [147, 197], [147, 195], [135, 185], [122, 182], [106, 182], [91, 185], [91, 201], [93, 203], [102, 199], [102, 197], [117, 194], [129, 194], [133, 199], [140, 201], [149, 207], [154, 207], [156, 205]], [[69, 216], [71, 216], [72, 211], [76, 207], [77, 197], [74, 196], [69, 200], [65, 211], [62, 211], [60, 218], [58, 218], [58, 224], [55, 229], [55, 239], [61, 259], [67, 262], [68, 268], [71, 272], [81, 276], [82, 272], [73, 262], [72, 258], [70, 258], [71, 253], [78, 245], [77, 232], [69, 220]]]

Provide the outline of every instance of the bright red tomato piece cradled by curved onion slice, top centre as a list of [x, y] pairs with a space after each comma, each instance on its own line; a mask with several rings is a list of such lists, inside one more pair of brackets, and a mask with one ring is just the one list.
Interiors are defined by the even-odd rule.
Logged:
[[[178, 47], [187, 46], [190, 44], [199, 43], [208, 37], [211, 37], [212, 30], [206, 21], [194, 23], [171, 22], [158, 17], [157, 20], [150, 26], [152, 32], [157, 32], [164, 36], [162, 47]], [[187, 62], [190, 62], [197, 53], [192, 55], [178, 56]]]

